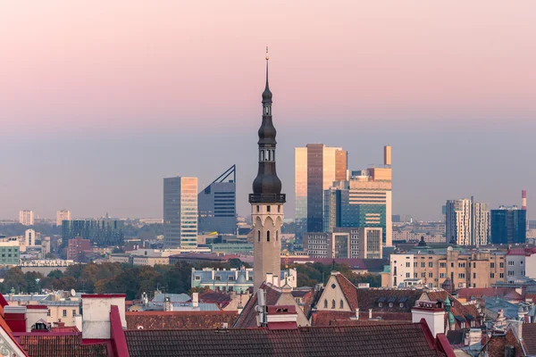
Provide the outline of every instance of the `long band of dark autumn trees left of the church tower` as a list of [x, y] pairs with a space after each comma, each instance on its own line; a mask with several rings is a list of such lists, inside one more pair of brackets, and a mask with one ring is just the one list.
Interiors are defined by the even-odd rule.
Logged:
[[188, 293], [191, 288], [191, 269], [214, 267], [220, 269], [239, 268], [246, 265], [239, 259], [228, 264], [187, 264], [134, 266], [118, 262], [102, 264], [76, 264], [65, 272], [53, 270], [46, 277], [29, 271], [23, 273], [18, 267], [7, 270], [0, 292], [30, 294], [47, 290], [71, 290], [87, 294], [126, 294], [128, 300], [138, 299], [144, 292], [150, 294], [156, 287], [168, 294]]

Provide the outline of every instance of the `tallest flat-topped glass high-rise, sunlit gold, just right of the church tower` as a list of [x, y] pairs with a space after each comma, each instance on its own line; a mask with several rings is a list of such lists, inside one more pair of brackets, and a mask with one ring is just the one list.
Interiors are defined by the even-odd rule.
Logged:
[[296, 222], [322, 232], [323, 192], [347, 179], [348, 152], [341, 147], [307, 144], [295, 149]]

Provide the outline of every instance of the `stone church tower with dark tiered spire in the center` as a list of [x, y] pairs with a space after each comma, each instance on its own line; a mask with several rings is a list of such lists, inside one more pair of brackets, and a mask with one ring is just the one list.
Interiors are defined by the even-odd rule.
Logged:
[[263, 92], [263, 121], [259, 129], [259, 170], [249, 195], [254, 230], [254, 286], [261, 286], [266, 274], [281, 276], [281, 226], [283, 204], [281, 179], [275, 172], [275, 134], [272, 123], [272, 92], [268, 86], [268, 56], [266, 56], [266, 87]]

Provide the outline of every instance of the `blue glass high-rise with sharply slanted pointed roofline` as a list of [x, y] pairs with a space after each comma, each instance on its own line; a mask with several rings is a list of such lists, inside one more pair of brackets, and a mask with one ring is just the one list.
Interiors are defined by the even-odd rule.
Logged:
[[[232, 175], [232, 179], [228, 178]], [[232, 165], [197, 195], [199, 233], [237, 233], [237, 174]]]

